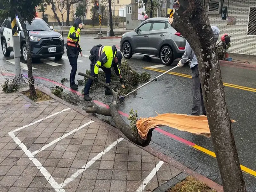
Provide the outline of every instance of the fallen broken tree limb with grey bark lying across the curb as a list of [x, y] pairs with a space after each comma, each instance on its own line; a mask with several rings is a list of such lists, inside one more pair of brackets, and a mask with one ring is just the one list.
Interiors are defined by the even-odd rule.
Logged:
[[[81, 72], [79, 72], [78, 75], [81, 75], [81, 76], [84, 76], [87, 78], [91, 78], [92, 80], [94, 80], [94, 77], [91, 77], [91, 76], [81, 73]], [[108, 84], [106, 84], [100, 80], [98, 81], [98, 83], [108, 87]], [[112, 116], [113, 120], [116, 124], [116, 128], [118, 128], [127, 139], [129, 139], [136, 145], [139, 145], [142, 147], [148, 146], [151, 141], [152, 131], [154, 129], [149, 130], [147, 138], [145, 140], [141, 139], [137, 128], [134, 129], [130, 125], [126, 124], [124, 122], [123, 118], [120, 116], [120, 114], [117, 110], [117, 103], [116, 103], [116, 101], [118, 100], [118, 95], [114, 90], [111, 90], [111, 91], [112, 91], [112, 95], [113, 95], [113, 102], [109, 105], [109, 108], [99, 107], [92, 102], [92, 104], [88, 105], [86, 112], [87, 113], [98, 113], [98, 114], [101, 114], [104, 116]]]

